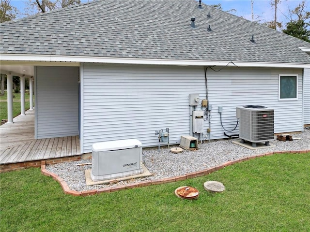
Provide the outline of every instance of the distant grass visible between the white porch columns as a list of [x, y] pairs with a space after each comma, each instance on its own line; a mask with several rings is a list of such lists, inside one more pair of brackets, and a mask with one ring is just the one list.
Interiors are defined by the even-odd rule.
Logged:
[[[20, 115], [20, 93], [13, 93], [15, 96], [13, 98], [13, 117]], [[25, 110], [30, 108], [29, 93], [25, 94]], [[0, 96], [0, 120], [7, 119], [8, 109], [7, 109], [7, 92], [4, 91], [4, 95]]]

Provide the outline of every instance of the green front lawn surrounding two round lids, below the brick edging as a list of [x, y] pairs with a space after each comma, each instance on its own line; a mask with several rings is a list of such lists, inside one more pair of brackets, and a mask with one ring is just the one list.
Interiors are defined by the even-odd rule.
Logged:
[[[164, 185], [74, 197], [31, 168], [1, 174], [1, 231], [310, 231], [310, 153], [281, 154]], [[226, 190], [211, 194], [207, 180]], [[198, 200], [174, 189], [192, 186]]]

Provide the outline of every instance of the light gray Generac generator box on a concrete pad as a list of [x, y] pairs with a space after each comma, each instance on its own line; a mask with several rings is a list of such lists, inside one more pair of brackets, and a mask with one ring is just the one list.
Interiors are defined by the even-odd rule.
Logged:
[[143, 173], [142, 144], [137, 139], [93, 144], [93, 181], [109, 180]]

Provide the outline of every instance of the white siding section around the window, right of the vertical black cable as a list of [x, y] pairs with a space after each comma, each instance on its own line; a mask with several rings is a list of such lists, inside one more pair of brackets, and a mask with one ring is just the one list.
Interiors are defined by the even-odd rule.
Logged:
[[[279, 74], [298, 74], [298, 101], [279, 101]], [[221, 126], [218, 106], [223, 107], [222, 124], [228, 131], [237, 123], [236, 107], [263, 105], [274, 109], [275, 133], [302, 130], [302, 69], [226, 68], [220, 72], [208, 69], [209, 102], [211, 112], [211, 139], [227, 132]], [[205, 127], [206, 128], [206, 127]]]

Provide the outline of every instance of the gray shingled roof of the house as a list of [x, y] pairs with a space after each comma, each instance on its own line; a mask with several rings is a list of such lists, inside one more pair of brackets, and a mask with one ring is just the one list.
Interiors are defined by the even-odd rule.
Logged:
[[3, 23], [0, 34], [1, 54], [310, 63], [298, 48], [310, 43], [195, 0], [97, 0]]

